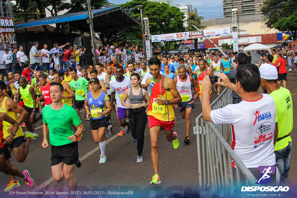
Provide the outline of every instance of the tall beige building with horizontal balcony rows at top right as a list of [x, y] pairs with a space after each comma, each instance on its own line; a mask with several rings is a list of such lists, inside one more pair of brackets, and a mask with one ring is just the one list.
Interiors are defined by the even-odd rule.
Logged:
[[261, 14], [264, 0], [223, 0], [224, 17], [232, 16], [232, 9], [238, 9], [238, 15]]

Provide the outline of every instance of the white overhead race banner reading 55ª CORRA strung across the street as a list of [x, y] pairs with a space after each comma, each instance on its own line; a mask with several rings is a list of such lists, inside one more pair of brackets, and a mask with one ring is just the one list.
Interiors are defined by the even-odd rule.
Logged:
[[[230, 34], [230, 28], [219, 28], [212, 30], [204, 30], [203, 33], [207, 37], [217, 37], [217, 36], [228, 36]], [[170, 34], [158, 34], [151, 36], [151, 42], [162, 42], [162, 41], [175, 41], [183, 39], [196, 39], [203, 37], [199, 31], [190, 31], [190, 32], [178, 32]]]

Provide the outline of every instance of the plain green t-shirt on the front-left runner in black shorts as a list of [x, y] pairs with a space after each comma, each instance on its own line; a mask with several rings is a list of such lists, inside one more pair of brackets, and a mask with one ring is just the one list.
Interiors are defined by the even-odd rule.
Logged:
[[71, 124], [78, 126], [81, 123], [78, 114], [73, 107], [67, 104], [60, 110], [53, 110], [51, 104], [42, 109], [43, 123], [48, 124], [50, 132], [50, 143], [54, 146], [69, 144], [72, 141], [68, 139], [74, 132], [71, 130]]

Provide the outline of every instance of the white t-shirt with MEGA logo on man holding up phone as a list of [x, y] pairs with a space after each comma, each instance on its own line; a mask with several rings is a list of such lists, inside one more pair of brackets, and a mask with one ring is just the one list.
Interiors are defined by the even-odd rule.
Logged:
[[[273, 136], [276, 107], [268, 94], [256, 101], [243, 100], [210, 113], [214, 124], [231, 124], [231, 148], [247, 168], [275, 165]], [[232, 167], [235, 167], [232, 161]]]

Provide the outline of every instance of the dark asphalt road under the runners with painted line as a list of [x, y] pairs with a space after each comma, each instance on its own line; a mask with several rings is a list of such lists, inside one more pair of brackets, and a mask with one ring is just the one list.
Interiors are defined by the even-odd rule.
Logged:
[[[287, 88], [291, 91], [293, 99], [294, 115], [297, 113], [296, 104], [296, 88], [297, 88], [297, 72], [289, 72]], [[217, 97], [213, 94], [212, 101]], [[83, 132], [82, 140], [78, 142], [79, 156], [83, 160], [82, 167], [75, 167], [74, 176], [78, 181], [78, 190], [80, 192], [90, 192], [95, 195], [88, 197], [110, 197], [105, 194], [109, 191], [133, 191], [134, 197], [153, 197], [160, 195], [167, 196], [174, 192], [182, 194], [183, 197], [197, 191], [198, 187], [198, 159], [197, 159], [197, 143], [196, 137], [193, 134], [191, 127], [190, 144], [186, 145], [184, 137], [186, 134], [186, 122], [181, 118], [178, 109], [176, 113], [176, 126], [174, 131], [177, 132], [180, 139], [178, 149], [174, 149], [172, 142], [167, 142], [164, 136], [164, 131], [161, 131], [159, 138], [159, 174], [161, 184], [150, 186], [151, 177], [154, 174], [151, 153], [150, 153], [150, 136], [148, 123], [145, 130], [145, 142], [143, 148], [143, 162], [136, 163], [137, 149], [136, 142], [132, 142], [131, 134], [125, 134], [118, 137], [120, 131], [119, 124], [116, 120], [116, 114], [112, 112], [113, 135], [110, 138], [105, 137], [106, 156], [105, 164], [99, 164], [100, 149], [99, 145], [95, 144], [91, 135], [91, 129], [88, 121], [83, 121], [86, 131]], [[195, 109], [192, 111], [192, 126], [195, 125], [195, 118], [201, 113], [199, 99], [195, 99]], [[81, 112], [84, 115], [84, 112]], [[20, 191], [36, 191], [36, 192], [54, 192], [68, 191], [66, 180], [57, 183], [52, 180], [50, 170], [50, 147], [42, 148], [42, 121], [35, 125], [37, 134], [40, 137], [30, 143], [29, 154], [23, 163], [18, 163], [15, 160], [12, 152], [11, 163], [19, 170], [28, 170], [31, 177], [34, 179], [34, 187], [29, 187], [23, 184], [20, 179], [20, 187], [16, 188], [15, 192]], [[296, 135], [297, 125], [294, 123], [291, 137], [293, 146], [290, 159], [289, 179], [292, 183], [297, 183], [295, 175], [297, 175], [297, 149], [294, 142], [297, 140]], [[10, 179], [4, 173], [0, 173], [0, 191], [9, 183]], [[97, 192], [98, 191], [98, 192]], [[102, 195], [103, 193], [103, 195]], [[101, 195], [98, 195], [101, 194]], [[167, 195], [168, 194], [168, 195]], [[192, 194], [192, 195], [194, 195]], [[37, 196], [37, 195], [36, 195]], [[56, 197], [57, 195], [39, 195], [38, 197]], [[62, 195], [67, 197], [69, 195]], [[79, 194], [77, 197], [84, 197]], [[117, 195], [118, 196], [118, 195]], [[0, 197], [28, 197], [28, 195], [16, 195], [9, 193], [0, 193]], [[120, 196], [121, 197], [121, 196]]]

